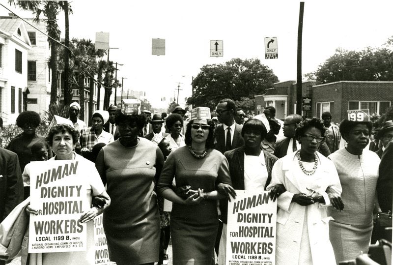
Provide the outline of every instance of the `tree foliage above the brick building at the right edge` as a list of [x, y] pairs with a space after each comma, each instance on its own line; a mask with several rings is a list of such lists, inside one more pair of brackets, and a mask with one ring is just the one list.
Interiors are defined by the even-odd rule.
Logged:
[[393, 81], [393, 38], [382, 48], [366, 47], [361, 51], [336, 49], [318, 69], [307, 77], [317, 84], [337, 81]]

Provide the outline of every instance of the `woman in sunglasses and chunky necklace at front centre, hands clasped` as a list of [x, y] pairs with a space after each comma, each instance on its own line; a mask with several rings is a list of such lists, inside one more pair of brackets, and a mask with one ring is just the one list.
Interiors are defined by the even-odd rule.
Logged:
[[[187, 124], [185, 143], [187, 146], [169, 154], [157, 189], [173, 202], [170, 216], [173, 265], [209, 265], [214, 261], [218, 229], [217, 200], [225, 198], [217, 192], [217, 185], [231, 185], [228, 161], [214, 149], [210, 114]], [[173, 178], [177, 187], [186, 187], [182, 192], [171, 189]]]

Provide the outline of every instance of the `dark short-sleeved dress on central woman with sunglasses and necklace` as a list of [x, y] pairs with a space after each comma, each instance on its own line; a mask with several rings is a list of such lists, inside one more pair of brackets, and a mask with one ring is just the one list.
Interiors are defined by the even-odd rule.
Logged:
[[[162, 193], [170, 188], [172, 179], [176, 186], [190, 185], [204, 192], [216, 190], [219, 183], [232, 184], [228, 161], [214, 149], [209, 149], [201, 159], [195, 158], [188, 146], [169, 154], [161, 173], [157, 189]], [[173, 203], [170, 218], [173, 265], [206, 265], [214, 257], [214, 244], [218, 229], [217, 202], [203, 200], [197, 205]]]

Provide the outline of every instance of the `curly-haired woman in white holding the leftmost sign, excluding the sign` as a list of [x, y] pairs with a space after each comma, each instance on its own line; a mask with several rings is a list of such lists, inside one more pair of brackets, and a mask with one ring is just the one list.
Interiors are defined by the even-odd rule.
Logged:
[[[75, 160], [78, 161], [77, 174], [86, 178], [86, 191], [85, 196], [88, 201], [88, 210], [84, 212], [80, 218], [82, 223], [87, 223], [87, 250], [86, 251], [73, 251], [73, 252], [54, 252], [54, 253], [42, 253], [30, 254], [29, 264], [40, 264], [42, 261], [43, 265], [69, 265], [69, 264], [95, 264], [95, 247], [94, 247], [94, 224], [93, 219], [97, 215], [101, 214], [110, 204], [111, 199], [109, 198], [105, 187], [101, 181], [100, 175], [98, 174], [95, 166], [92, 162], [76, 154], [73, 149], [79, 139], [79, 132], [74, 130], [68, 124], [57, 124], [52, 127], [47, 136], [47, 141], [52, 150], [56, 154], [51, 160]], [[41, 162], [39, 162], [41, 163]], [[31, 181], [31, 178], [30, 178]], [[91, 206], [93, 196], [99, 196], [101, 200], [101, 207]], [[66, 197], [64, 199], [67, 199]], [[31, 198], [34, 200], [34, 198]], [[30, 206], [27, 208], [29, 213], [38, 214], [36, 209], [32, 209]], [[30, 220], [31, 221], [31, 220]], [[41, 260], [42, 259], [42, 260]]]

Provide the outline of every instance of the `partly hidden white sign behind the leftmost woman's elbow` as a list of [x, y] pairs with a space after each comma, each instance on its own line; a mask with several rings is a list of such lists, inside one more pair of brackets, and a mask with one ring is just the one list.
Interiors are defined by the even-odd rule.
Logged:
[[102, 214], [94, 218], [95, 264], [112, 264], [109, 259], [107, 236], [102, 225]]

